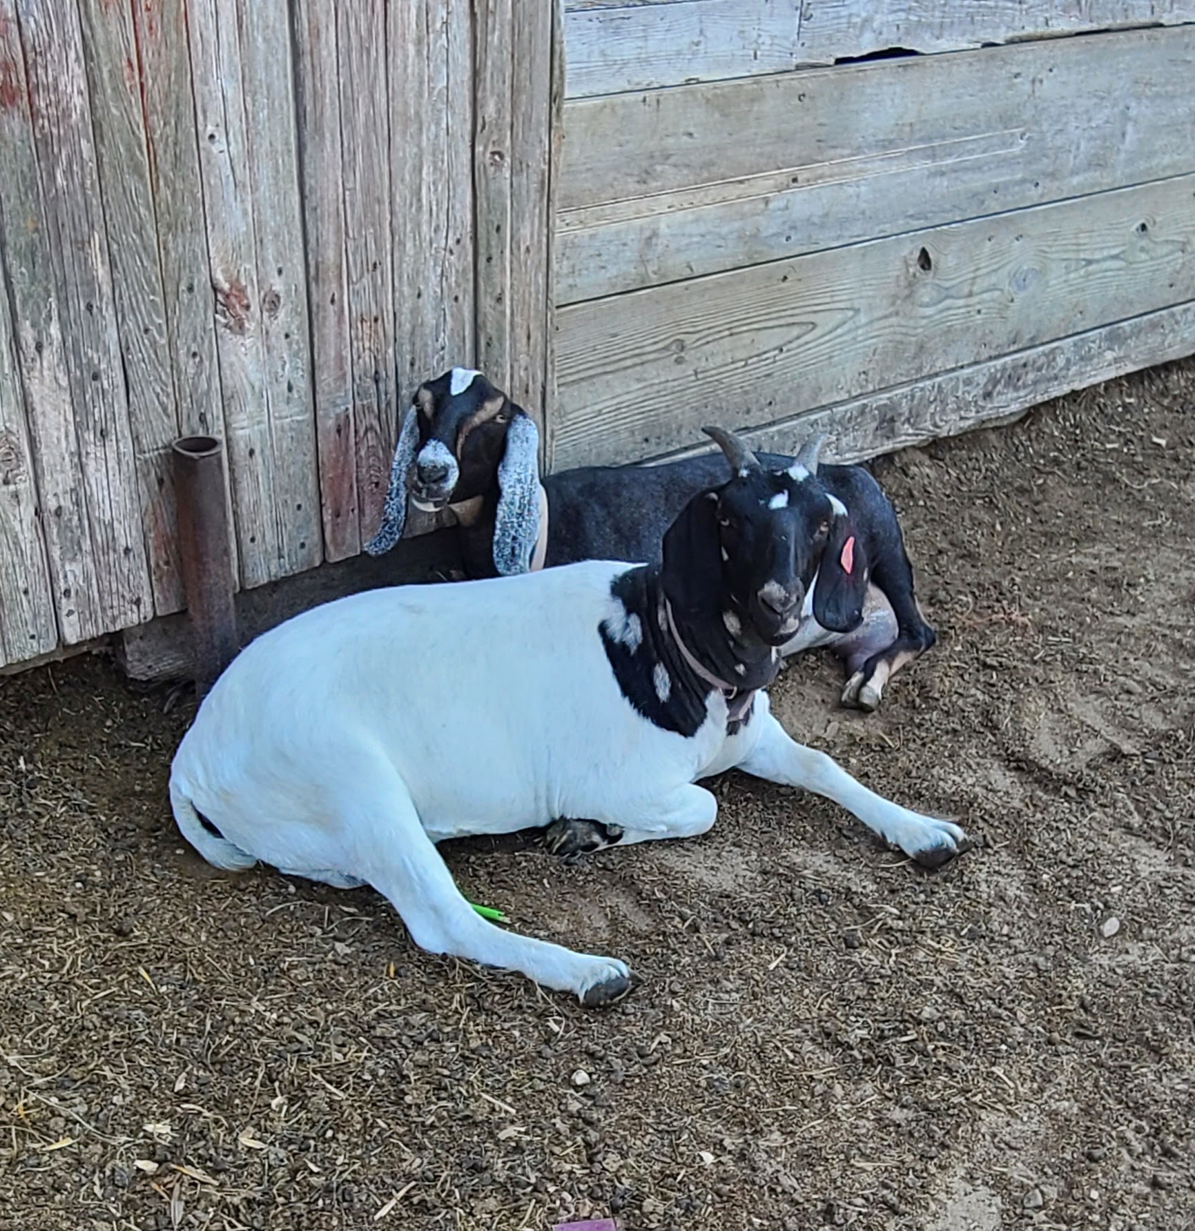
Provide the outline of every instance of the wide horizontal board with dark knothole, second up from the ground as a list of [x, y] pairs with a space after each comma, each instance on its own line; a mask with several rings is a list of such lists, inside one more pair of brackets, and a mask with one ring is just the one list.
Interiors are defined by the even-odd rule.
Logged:
[[1195, 298], [1195, 176], [573, 304], [554, 467], [627, 462]]

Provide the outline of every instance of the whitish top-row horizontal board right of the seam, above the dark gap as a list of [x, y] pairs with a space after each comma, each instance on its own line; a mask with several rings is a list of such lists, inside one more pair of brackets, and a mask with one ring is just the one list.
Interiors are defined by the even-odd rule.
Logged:
[[1016, 39], [1184, 21], [1195, 21], [1191, 0], [809, 0], [797, 54], [806, 64], [833, 64], [896, 47], [957, 52]]

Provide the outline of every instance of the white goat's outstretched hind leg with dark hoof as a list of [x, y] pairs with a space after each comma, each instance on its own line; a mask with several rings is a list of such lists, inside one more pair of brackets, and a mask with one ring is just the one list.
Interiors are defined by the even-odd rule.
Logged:
[[402, 778], [393, 771], [371, 778], [356, 782], [352, 799], [345, 801], [344, 833], [354, 870], [393, 902], [415, 944], [519, 971], [553, 991], [573, 992], [586, 1006], [607, 1004], [630, 988], [631, 971], [621, 961], [574, 953], [483, 920], [424, 831]]

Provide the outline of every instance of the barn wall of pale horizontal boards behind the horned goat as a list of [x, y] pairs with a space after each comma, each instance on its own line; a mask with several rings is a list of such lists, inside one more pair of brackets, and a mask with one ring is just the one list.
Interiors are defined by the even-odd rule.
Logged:
[[553, 467], [857, 458], [1195, 351], [1193, 21], [565, 0]]

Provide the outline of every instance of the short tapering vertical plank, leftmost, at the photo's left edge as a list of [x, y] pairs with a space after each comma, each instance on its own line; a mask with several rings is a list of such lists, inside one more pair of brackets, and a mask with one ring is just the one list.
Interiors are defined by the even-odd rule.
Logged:
[[58, 644], [6, 283], [0, 268], [0, 666]]

